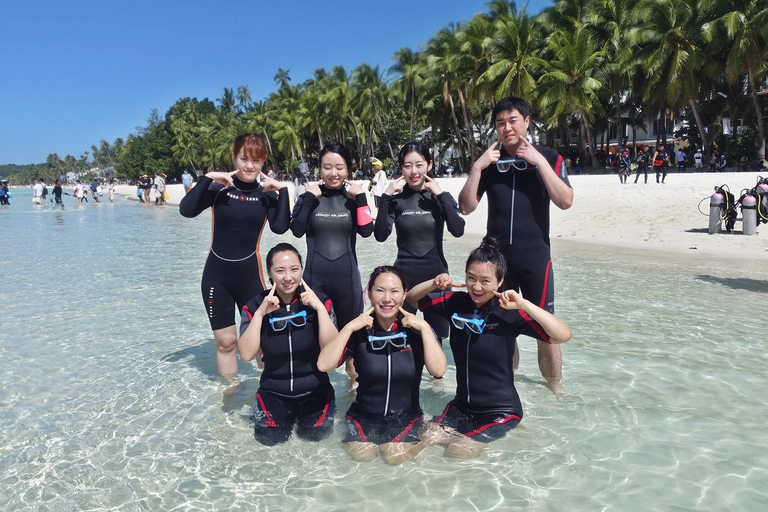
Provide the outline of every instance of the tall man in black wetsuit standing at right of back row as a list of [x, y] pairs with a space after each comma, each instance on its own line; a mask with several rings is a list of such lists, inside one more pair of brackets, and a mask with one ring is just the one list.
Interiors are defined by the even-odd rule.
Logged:
[[[462, 214], [469, 215], [488, 194], [486, 230], [501, 243], [507, 260], [507, 287], [519, 288], [526, 299], [553, 313], [549, 203], [561, 210], [573, 204], [568, 171], [555, 150], [528, 142], [531, 118], [525, 100], [514, 96], [502, 99], [491, 119], [499, 140], [472, 165], [459, 194], [459, 207]], [[506, 163], [497, 166], [499, 160]], [[538, 353], [542, 376], [553, 392], [561, 393], [560, 347], [538, 340]], [[516, 359], [517, 354], [515, 350]]]

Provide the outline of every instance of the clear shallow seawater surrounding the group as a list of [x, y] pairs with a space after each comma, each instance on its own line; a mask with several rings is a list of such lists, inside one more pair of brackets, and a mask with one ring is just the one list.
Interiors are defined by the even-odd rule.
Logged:
[[[558, 400], [521, 338], [519, 428], [479, 459], [428, 447], [353, 462], [340, 434], [268, 448], [258, 371], [224, 396], [199, 281], [210, 215], [115, 204], [0, 207], [0, 508], [15, 510], [765, 510], [768, 271], [556, 245]], [[278, 240], [268, 230], [264, 252]], [[453, 274], [477, 242], [447, 235]], [[358, 244], [361, 273], [394, 259]], [[296, 241], [304, 251], [303, 241]], [[449, 362], [452, 357], [449, 351]], [[332, 374], [337, 427], [351, 403]], [[441, 412], [455, 372], [426, 377]]]

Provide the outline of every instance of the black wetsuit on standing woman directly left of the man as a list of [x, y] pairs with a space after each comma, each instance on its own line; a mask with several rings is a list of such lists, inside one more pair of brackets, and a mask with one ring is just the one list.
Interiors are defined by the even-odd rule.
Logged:
[[[383, 242], [397, 226], [397, 258], [394, 266], [413, 287], [423, 281], [448, 273], [443, 254], [443, 226], [455, 237], [464, 234], [464, 219], [456, 200], [448, 192], [438, 196], [427, 190], [414, 191], [406, 186], [400, 194], [381, 196], [374, 235]], [[410, 305], [406, 309], [413, 311]], [[432, 314], [424, 317], [439, 338], [447, 338], [450, 324]]]

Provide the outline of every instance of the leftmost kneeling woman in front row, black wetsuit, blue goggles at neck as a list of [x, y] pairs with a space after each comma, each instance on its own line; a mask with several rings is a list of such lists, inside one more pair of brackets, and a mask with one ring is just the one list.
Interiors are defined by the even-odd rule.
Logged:
[[301, 279], [301, 255], [280, 243], [267, 254], [272, 288], [243, 308], [238, 350], [245, 361], [263, 353], [264, 370], [253, 407], [256, 440], [288, 440], [294, 424], [308, 441], [330, 435], [336, 412], [328, 374], [317, 369], [320, 348], [339, 331], [331, 301]]

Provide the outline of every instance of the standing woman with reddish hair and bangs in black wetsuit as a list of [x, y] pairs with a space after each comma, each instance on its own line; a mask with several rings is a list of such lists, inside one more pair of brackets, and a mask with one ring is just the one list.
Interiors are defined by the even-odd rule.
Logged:
[[227, 383], [239, 384], [235, 308], [264, 291], [259, 243], [264, 225], [277, 234], [288, 231], [290, 197], [285, 184], [258, 177], [267, 159], [261, 137], [244, 133], [235, 138], [231, 172], [209, 172], [181, 200], [179, 213], [196, 217], [210, 208], [211, 250], [200, 289], [216, 343], [216, 369]]

